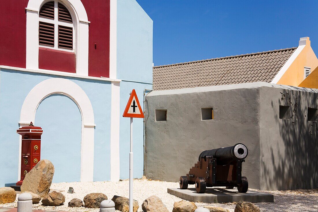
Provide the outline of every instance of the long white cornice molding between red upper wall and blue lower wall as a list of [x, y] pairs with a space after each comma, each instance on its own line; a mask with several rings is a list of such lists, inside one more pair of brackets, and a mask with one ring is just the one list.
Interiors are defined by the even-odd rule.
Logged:
[[92, 77], [92, 76], [82, 76], [77, 75], [76, 73], [66, 73], [60, 71], [53, 71], [53, 70], [44, 70], [44, 69], [27, 69], [27, 68], [18, 68], [18, 67], [11, 67], [11, 66], [0, 66], [2, 69], [10, 69], [16, 71], [24, 71], [24, 72], [31, 72], [31, 73], [39, 73], [39, 74], [50, 74], [50, 75], [57, 75], [57, 76], [67, 76], [67, 77], [75, 77], [75, 78], [82, 78], [82, 79], [91, 79], [91, 80], [100, 80], [100, 81], [110, 81], [110, 82], [121, 82], [119, 79], [111, 79], [106, 77]]

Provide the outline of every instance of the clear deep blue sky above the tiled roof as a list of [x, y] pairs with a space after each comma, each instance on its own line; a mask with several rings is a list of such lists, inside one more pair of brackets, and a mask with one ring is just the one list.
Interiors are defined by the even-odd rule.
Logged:
[[154, 21], [155, 66], [298, 46], [318, 55], [318, 1], [137, 0]]

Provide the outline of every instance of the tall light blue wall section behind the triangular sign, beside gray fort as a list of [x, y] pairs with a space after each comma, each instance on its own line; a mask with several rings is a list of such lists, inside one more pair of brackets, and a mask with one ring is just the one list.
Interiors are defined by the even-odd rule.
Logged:
[[[136, 90], [143, 108], [144, 89], [152, 88], [153, 21], [135, 0], [117, 0], [117, 78], [120, 113]], [[129, 178], [130, 119], [120, 118], [120, 178]], [[134, 177], [143, 175], [143, 119], [133, 121]]]

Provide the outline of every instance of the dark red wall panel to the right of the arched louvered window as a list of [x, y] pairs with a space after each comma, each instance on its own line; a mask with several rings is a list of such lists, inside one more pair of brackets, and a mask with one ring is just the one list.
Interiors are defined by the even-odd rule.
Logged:
[[[88, 75], [109, 77], [109, 0], [81, 0], [88, 16]], [[96, 43], [96, 49], [95, 49]]]

